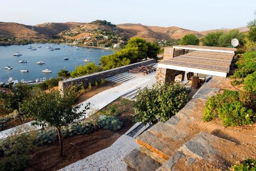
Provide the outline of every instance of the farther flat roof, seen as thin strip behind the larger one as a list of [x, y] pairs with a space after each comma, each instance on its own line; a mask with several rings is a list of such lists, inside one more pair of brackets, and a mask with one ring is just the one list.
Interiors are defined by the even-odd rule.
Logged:
[[223, 48], [223, 47], [210, 47], [210, 46], [196, 46], [196, 45], [185, 45], [185, 46], [174, 46], [174, 49], [187, 49], [187, 50], [198, 50], [198, 51], [210, 51], [210, 52], [224, 52], [234, 53], [236, 48]]

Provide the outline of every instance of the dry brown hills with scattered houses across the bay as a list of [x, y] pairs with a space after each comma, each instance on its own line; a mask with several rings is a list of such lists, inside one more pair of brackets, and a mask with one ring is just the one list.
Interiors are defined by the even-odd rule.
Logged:
[[[13, 43], [14, 37], [20, 40], [47, 40], [55, 39], [62, 42], [67, 40], [81, 40], [83, 44], [101, 44], [110, 45], [120, 40], [127, 40], [131, 37], [141, 37], [146, 40], [169, 40], [182, 38], [184, 35], [193, 33], [201, 37], [209, 32], [215, 32], [218, 30], [228, 31], [230, 29], [218, 29], [218, 30], [206, 30], [206, 31], [193, 31], [179, 27], [159, 27], [159, 26], [144, 26], [141, 24], [120, 24], [120, 25], [108, 25], [105, 20], [96, 20], [92, 23], [44, 23], [36, 26], [23, 25], [18, 23], [4, 23], [0, 22], [0, 40]], [[248, 31], [248, 28], [237, 28], [241, 32]], [[110, 36], [111, 38], [104, 38], [104, 36]], [[114, 37], [114, 38], [113, 38]], [[116, 38], [117, 37], [117, 38]], [[122, 37], [122, 38], [121, 38]], [[87, 42], [87, 40], [90, 40]], [[109, 40], [109, 41], [107, 41]], [[85, 43], [84, 43], [85, 42]]]

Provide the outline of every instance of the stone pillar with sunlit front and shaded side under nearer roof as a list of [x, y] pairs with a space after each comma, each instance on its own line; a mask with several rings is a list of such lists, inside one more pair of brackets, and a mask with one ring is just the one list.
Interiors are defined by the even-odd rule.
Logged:
[[157, 68], [156, 79], [157, 79], [157, 82], [160, 82], [160, 83], [174, 82], [175, 77], [179, 74], [182, 74], [182, 79], [184, 80], [184, 76], [185, 76], [184, 71], [171, 70], [166, 68]]

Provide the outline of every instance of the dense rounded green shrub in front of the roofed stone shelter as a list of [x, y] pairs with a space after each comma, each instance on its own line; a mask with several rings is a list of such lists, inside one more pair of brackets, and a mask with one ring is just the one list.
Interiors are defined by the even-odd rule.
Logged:
[[134, 103], [135, 119], [142, 123], [165, 122], [178, 113], [188, 102], [190, 89], [179, 83], [156, 83], [152, 88], [138, 91]]

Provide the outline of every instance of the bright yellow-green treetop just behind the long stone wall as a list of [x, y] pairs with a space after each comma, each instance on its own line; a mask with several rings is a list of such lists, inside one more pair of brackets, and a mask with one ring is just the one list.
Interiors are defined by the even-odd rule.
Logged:
[[88, 62], [86, 66], [80, 65], [79, 67], [76, 67], [75, 71], [72, 71], [70, 75], [75, 78], [100, 71], [102, 71], [102, 68], [100, 66], [96, 66], [93, 62]]

